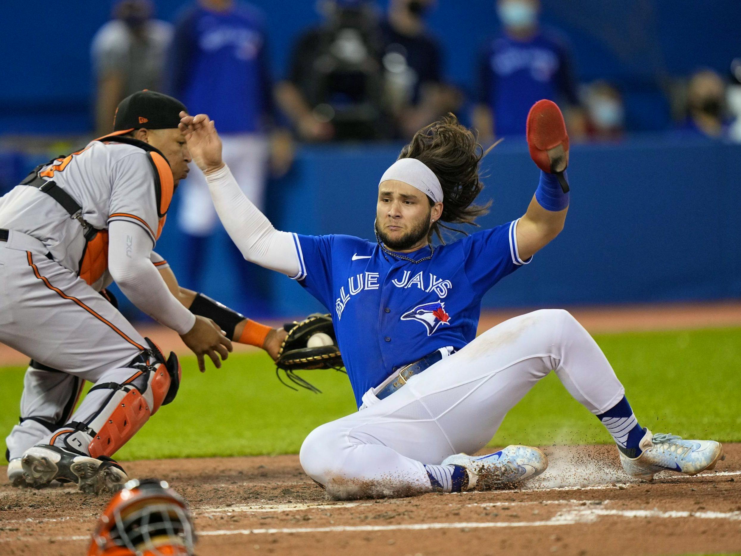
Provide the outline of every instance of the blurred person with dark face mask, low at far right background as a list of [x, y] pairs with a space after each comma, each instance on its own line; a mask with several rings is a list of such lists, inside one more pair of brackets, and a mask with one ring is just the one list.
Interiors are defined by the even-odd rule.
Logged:
[[679, 124], [679, 133], [728, 137], [731, 122], [725, 115], [725, 82], [710, 69], [695, 72], [687, 87], [687, 117]]

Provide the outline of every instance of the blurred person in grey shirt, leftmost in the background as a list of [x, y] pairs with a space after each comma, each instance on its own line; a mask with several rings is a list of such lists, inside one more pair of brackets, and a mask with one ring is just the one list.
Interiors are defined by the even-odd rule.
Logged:
[[172, 25], [153, 19], [149, 0], [121, 0], [113, 19], [93, 37], [96, 76], [96, 133], [112, 130], [113, 113], [125, 97], [143, 89], [162, 90]]

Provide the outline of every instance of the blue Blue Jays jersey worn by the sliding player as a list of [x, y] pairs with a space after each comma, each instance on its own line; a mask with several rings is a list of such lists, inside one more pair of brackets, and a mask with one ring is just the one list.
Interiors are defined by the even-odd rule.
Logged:
[[[516, 225], [441, 245], [418, 264], [350, 235], [293, 234], [301, 268], [293, 278], [331, 313], [358, 405], [400, 366], [476, 338], [482, 296], [529, 262], [519, 258]], [[429, 255], [429, 247], [405, 253]]]

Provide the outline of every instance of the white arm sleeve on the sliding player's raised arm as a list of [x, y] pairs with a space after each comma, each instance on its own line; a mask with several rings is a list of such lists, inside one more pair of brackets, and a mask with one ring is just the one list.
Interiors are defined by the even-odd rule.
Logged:
[[213, 206], [242, 256], [291, 277], [301, 269], [293, 234], [279, 232], [239, 189], [229, 167], [206, 175]]

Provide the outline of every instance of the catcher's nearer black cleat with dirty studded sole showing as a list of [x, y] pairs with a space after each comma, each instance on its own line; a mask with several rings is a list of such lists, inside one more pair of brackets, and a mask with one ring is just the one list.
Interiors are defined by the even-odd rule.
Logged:
[[99, 494], [117, 492], [128, 480], [122, 466], [110, 458], [90, 458], [48, 444], [37, 444], [27, 449], [21, 465], [27, 486], [35, 488], [58, 480], [77, 483], [80, 492]]

